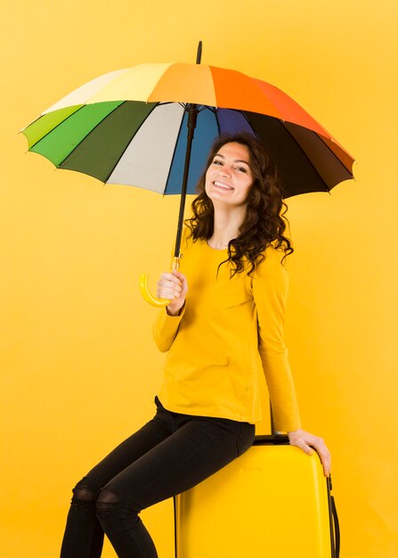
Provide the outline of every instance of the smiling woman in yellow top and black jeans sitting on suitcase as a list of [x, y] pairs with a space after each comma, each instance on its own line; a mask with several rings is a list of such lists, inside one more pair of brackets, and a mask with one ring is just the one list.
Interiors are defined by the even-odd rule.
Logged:
[[164, 273], [170, 300], [154, 326], [168, 351], [157, 413], [74, 488], [61, 558], [97, 558], [103, 533], [119, 558], [154, 558], [142, 509], [213, 474], [253, 443], [264, 369], [275, 428], [325, 475], [323, 441], [301, 429], [283, 341], [292, 250], [272, 161], [250, 135], [220, 137], [183, 234], [181, 271]]

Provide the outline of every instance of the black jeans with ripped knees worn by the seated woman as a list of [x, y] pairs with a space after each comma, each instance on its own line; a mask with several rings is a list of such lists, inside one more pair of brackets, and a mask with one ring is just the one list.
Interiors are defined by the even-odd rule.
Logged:
[[255, 426], [157, 413], [73, 490], [61, 558], [99, 558], [104, 532], [119, 558], [158, 556], [138, 513], [198, 484], [253, 444]]

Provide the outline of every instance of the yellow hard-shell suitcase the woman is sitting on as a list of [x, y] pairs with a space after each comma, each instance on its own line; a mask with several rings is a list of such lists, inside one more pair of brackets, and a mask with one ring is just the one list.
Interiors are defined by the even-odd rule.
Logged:
[[256, 436], [253, 447], [175, 497], [176, 558], [337, 558], [331, 481], [321, 461]]

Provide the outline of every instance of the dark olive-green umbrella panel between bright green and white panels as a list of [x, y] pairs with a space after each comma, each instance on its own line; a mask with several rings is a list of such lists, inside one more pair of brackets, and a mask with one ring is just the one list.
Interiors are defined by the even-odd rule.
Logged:
[[120, 104], [86, 135], [60, 168], [77, 170], [107, 182], [132, 137], [155, 106], [155, 103]]

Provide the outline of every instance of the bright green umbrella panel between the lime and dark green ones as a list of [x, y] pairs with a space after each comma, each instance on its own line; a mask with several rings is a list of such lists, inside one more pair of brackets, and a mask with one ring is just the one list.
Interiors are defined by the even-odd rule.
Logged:
[[[51, 160], [56, 167], [68, 157], [69, 153], [81, 144], [82, 140], [120, 103], [89, 104], [74, 112], [68, 119], [64, 119], [37, 142], [31, 149]], [[63, 110], [62, 110], [63, 111]], [[48, 115], [45, 115], [48, 116]]]

